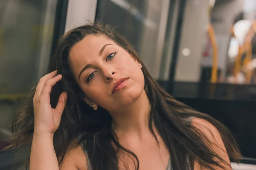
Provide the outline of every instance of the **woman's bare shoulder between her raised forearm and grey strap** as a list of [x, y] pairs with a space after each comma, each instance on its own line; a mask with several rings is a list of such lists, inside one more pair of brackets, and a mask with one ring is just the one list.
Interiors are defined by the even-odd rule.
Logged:
[[76, 142], [74, 141], [67, 150], [60, 165], [60, 170], [87, 170], [87, 159], [84, 150], [80, 145], [76, 146]]

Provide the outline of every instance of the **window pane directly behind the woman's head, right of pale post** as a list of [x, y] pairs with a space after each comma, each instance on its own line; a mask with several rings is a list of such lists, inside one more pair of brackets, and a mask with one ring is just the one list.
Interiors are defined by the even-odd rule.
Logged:
[[159, 79], [170, 5], [170, 0], [98, 0], [96, 20], [125, 36]]

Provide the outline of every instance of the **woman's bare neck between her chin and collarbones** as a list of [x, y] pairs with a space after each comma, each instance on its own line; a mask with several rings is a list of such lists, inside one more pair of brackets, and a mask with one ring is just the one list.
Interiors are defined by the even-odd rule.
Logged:
[[111, 113], [113, 117], [113, 130], [118, 136], [137, 136], [142, 137], [149, 131], [148, 116], [150, 111], [150, 103], [148, 96], [143, 90], [140, 97], [134, 104], [119, 113]]

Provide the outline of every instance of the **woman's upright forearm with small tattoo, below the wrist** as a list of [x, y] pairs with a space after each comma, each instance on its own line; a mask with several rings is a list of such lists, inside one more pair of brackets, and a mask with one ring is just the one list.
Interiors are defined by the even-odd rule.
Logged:
[[29, 169], [59, 170], [51, 133], [34, 132]]

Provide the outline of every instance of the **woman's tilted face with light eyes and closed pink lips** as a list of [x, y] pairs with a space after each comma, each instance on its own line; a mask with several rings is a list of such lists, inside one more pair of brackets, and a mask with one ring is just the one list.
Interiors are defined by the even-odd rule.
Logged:
[[[88, 105], [120, 111], [131, 107], [144, 90], [137, 59], [103, 35], [88, 35], [74, 45], [70, 63]], [[118, 81], [122, 83], [115, 88]]]

